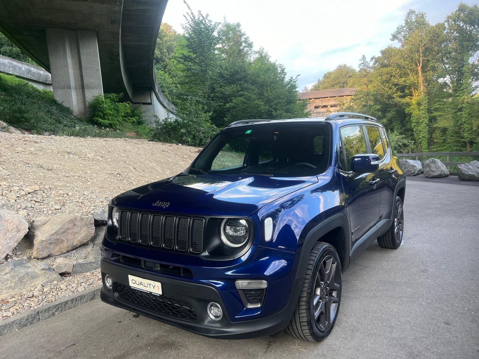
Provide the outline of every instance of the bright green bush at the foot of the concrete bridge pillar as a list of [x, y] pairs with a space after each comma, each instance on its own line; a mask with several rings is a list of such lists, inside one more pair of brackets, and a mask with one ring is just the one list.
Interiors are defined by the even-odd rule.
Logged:
[[130, 102], [120, 102], [123, 93], [105, 93], [93, 96], [88, 107], [91, 123], [110, 128], [118, 128], [120, 123], [137, 123], [141, 114], [132, 108]]

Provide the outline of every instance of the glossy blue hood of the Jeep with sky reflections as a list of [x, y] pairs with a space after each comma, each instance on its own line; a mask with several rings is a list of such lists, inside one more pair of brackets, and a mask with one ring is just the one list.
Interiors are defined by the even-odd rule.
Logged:
[[317, 176], [180, 174], [126, 191], [116, 196], [112, 204], [147, 211], [249, 216], [262, 206], [316, 182]]

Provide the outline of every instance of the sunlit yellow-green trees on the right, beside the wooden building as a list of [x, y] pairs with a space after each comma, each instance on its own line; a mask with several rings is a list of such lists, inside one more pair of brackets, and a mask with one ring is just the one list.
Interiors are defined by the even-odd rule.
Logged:
[[342, 110], [378, 118], [399, 152], [479, 151], [479, 7], [461, 3], [435, 25], [410, 10], [390, 40], [309, 90], [359, 87]]

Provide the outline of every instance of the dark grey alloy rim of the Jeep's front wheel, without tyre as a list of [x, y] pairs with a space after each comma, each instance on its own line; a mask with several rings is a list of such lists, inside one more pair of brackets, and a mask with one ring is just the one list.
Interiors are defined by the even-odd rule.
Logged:
[[341, 268], [336, 259], [329, 255], [323, 259], [316, 274], [311, 295], [314, 321], [321, 332], [331, 326], [338, 312]]

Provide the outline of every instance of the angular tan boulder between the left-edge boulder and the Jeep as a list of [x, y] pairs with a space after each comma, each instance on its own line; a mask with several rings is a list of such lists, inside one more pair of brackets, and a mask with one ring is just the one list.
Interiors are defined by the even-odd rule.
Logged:
[[30, 229], [33, 257], [56, 256], [87, 243], [95, 233], [92, 216], [71, 214], [36, 218]]

